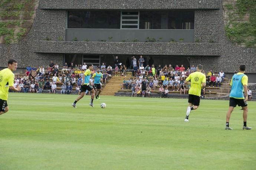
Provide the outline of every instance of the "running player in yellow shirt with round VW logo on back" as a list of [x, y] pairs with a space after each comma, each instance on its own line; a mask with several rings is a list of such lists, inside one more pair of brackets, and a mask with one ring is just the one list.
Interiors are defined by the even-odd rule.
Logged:
[[[191, 110], [196, 110], [200, 104], [201, 89], [206, 86], [206, 76], [201, 73], [203, 65], [197, 65], [196, 72], [191, 73], [185, 80], [185, 84], [190, 85], [188, 91], [188, 108], [186, 112], [185, 122], [188, 122], [188, 116]], [[190, 82], [189, 82], [190, 81]]]

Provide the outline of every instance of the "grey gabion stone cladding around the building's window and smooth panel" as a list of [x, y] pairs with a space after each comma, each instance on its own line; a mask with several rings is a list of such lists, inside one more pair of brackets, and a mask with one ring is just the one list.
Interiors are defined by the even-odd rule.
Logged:
[[[201, 2], [200, 2], [201, 1]], [[200, 2], [200, 3], [199, 3]], [[123, 6], [124, 4], [124, 6]], [[72, 42], [65, 40], [66, 10], [63, 9], [194, 9], [195, 43], [116, 43]], [[221, 0], [40, 0], [29, 34], [19, 44], [0, 45], [0, 67], [16, 58], [19, 67], [63, 64], [63, 54], [144, 54], [187, 55], [191, 65], [203, 64], [205, 70], [237, 71], [241, 63], [248, 73], [256, 73], [255, 48], [243, 48], [227, 40]]]

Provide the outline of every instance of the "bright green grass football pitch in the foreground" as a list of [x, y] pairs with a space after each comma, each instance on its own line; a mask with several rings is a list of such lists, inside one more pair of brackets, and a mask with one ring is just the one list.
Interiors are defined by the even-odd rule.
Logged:
[[[9, 93], [0, 115], [0, 170], [256, 169], [256, 102], [224, 130], [229, 101]], [[100, 107], [106, 103], [106, 108]]]

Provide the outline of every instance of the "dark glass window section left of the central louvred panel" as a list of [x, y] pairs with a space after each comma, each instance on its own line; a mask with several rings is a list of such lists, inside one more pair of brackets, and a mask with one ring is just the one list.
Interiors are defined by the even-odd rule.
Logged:
[[120, 29], [121, 11], [69, 11], [68, 28]]

